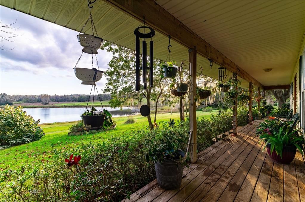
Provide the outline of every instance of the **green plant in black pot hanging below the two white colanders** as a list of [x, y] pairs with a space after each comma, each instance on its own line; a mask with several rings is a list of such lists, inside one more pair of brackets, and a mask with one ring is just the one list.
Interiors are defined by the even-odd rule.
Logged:
[[87, 109], [81, 116], [84, 122], [84, 127], [87, 130], [99, 130], [102, 127], [107, 129], [111, 125], [113, 125], [113, 121], [111, 119], [112, 115], [108, 110], [104, 109], [100, 111], [91, 106], [90, 111]]

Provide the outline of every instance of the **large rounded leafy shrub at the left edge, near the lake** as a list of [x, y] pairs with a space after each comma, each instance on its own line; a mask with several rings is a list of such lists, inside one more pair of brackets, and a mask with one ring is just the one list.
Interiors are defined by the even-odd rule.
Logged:
[[45, 133], [34, 118], [27, 115], [21, 106], [5, 105], [0, 109], [0, 145], [20, 145], [41, 139]]

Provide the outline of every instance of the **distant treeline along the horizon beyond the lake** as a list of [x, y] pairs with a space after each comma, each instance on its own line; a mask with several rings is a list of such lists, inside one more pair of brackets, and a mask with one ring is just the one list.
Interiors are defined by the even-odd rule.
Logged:
[[[43, 99], [47, 99], [51, 102], [84, 102], [88, 101], [89, 95], [84, 94], [73, 94], [73, 95], [8, 95], [5, 93], [1, 93], [0, 102], [3, 104], [10, 104], [13, 102], [23, 102], [23, 103], [36, 103], [42, 102]], [[99, 97], [101, 101], [110, 100], [110, 94], [99, 94], [94, 96], [94, 100], [99, 101]], [[93, 96], [90, 96], [90, 100], [93, 99]]]

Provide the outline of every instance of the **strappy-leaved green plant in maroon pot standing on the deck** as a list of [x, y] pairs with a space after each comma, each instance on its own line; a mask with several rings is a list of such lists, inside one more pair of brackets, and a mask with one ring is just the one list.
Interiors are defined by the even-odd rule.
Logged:
[[265, 142], [264, 149], [267, 148], [270, 158], [278, 163], [289, 164], [299, 149], [303, 155], [304, 139], [299, 129], [291, 127], [291, 121], [272, 119], [260, 123], [257, 135]]

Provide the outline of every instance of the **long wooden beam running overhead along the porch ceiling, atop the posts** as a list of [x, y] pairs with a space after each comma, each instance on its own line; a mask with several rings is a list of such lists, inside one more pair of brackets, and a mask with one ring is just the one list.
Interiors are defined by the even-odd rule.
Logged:
[[224, 54], [219, 52], [216, 48], [203, 40], [157, 2], [148, 0], [107, 0], [106, 2], [139, 21], [143, 21], [143, 18], [145, 18], [145, 22], [149, 26], [165, 36], [170, 35], [172, 39], [187, 48], [193, 48], [193, 46], [196, 46], [198, 54], [213, 60], [213, 62], [226, 67], [227, 70], [237, 73], [239, 77], [242, 77], [243, 79], [264, 89], [264, 86], [260, 82], [254, 79], [228, 57], [224, 56]]

